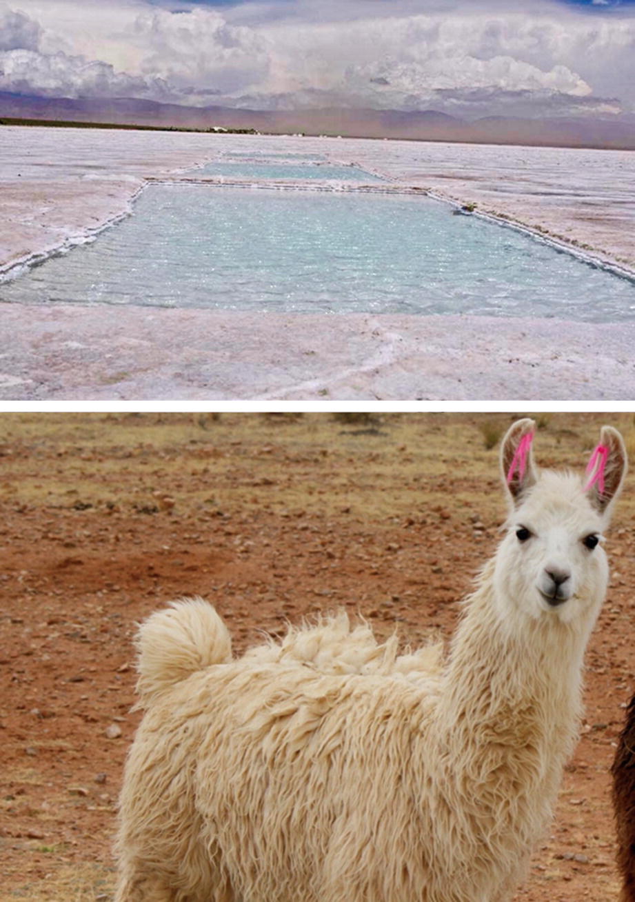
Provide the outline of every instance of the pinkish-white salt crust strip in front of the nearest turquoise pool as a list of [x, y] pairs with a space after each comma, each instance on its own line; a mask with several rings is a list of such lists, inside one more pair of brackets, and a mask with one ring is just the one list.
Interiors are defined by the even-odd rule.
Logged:
[[625, 400], [635, 330], [553, 319], [5, 305], [5, 400]]

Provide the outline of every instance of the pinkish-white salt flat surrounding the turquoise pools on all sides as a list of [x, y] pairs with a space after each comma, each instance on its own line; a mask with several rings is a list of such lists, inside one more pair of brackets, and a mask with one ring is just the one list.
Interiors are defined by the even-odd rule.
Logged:
[[[635, 153], [8, 126], [0, 266], [85, 240], [145, 178], [227, 150], [356, 162], [635, 270]], [[632, 399], [634, 344], [630, 323], [5, 304], [0, 398]]]

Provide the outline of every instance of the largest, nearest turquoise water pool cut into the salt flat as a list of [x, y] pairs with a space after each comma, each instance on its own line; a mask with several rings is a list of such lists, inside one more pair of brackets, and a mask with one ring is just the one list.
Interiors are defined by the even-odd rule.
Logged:
[[426, 197], [151, 185], [0, 300], [632, 319], [635, 285]]

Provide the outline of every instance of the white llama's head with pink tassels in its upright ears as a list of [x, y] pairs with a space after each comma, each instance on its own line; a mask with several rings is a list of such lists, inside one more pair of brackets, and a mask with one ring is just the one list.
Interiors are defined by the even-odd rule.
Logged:
[[593, 625], [608, 582], [603, 532], [626, 474], [624, 444], [604, 426], [586, 473], [538, 470], [534, 431], [520, 419], [502, 441], [511, 512], [494, 568], [497, 604], [503, 617]]

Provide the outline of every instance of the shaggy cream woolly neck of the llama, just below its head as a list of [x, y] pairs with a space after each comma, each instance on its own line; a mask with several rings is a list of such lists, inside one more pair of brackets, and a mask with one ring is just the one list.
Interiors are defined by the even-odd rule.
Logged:
[[560, 758], [575, 735], [587, 635], [555, 616], [511, 626], [488, 576], [456, 631], [439, 725], [463, 733], [466, 744], [476, 737], [479, 746], [488, 739], [501, 750], [530, 746]]

